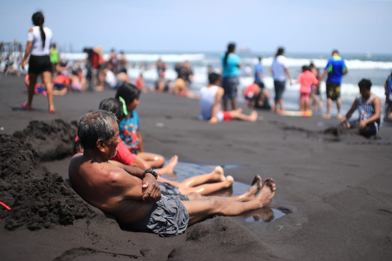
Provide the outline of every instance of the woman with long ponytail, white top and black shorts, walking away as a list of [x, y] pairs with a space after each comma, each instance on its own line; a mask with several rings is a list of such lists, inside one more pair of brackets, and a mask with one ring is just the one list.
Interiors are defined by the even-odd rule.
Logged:
[[44, 27], [44, 15], [42, 12], [36, 12], [31, 17], [33, 28], [30, 28], [27, 33], [27, 44], [25, 50], [25, 56], [22, 63], [22, 68], [29, 59], [29, 90], [27, 102], [22, 103], [22, 108], [25, 110], [31, 110], [31, 103], [33, 102], [34, 88], [37, 82], [37, 78], [42, 74], [42, 80], [45, 83], [48, 102], [49, 102], [49, 113], [56, 112], [53, 105], [53, 86], [52, 86], [52, 64], [50, 61], [50, 43], [52, 40], [52, 30], [48, 27]]

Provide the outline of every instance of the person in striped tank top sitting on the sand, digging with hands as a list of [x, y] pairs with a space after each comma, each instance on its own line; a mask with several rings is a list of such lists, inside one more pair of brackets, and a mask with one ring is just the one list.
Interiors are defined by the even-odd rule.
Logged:
[[[359, 135], [370, 138], [376, 135], [379, 130], [381, 100], [376, 94], [370, 92], [370, 87], [372, 86], [372, 82], [370, 80], [361, 79], [358, 86], [360, 94], [354, 100], [354, 103], [347, 112], [346, 116], [340, 120], [340, 125], [334, 133], [339, 135], [347, 129], [356, 128]], [[348, 121], [355, 110], [358, 110], [358, 119], [355, 121]]]

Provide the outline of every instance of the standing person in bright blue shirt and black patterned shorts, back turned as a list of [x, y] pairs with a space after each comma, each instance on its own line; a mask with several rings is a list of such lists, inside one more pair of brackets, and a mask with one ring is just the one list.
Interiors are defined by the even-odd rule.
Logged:
[[332, 57], [329, 58], [327, 66], [325, 67], [324, 73], [321, 76], [320, 81], [328, 74], [327, 78], [327, 114], [323, 114], [323, 118], [330, 119], [331, 117], [331, 106], [332, 101], [336, 101], [336, 107], [338, 107], [338, 119], [341, 118], [340, 108], [340, 85], [343, 75], [347, 74], [348, 70], [345, 65], [343, 58], [339, 56], [338, 50], [332, 51]]

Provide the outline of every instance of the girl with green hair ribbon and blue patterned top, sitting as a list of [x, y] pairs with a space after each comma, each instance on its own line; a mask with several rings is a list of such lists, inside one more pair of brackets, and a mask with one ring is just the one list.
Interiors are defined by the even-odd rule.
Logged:
[[127, 148], [138, 157], [147, 161], [152, 168], [157, 168], [165, 164], [162, 155], [146, 153], [143, 148], [143, 139], [140, 134], [139, 116], [136, 107], [139, 104], [140, 90], [131, 83], [123, 83], [116, 92], [116, 99], [123, 103], [124, 119], [119, 123], [120, 138]]

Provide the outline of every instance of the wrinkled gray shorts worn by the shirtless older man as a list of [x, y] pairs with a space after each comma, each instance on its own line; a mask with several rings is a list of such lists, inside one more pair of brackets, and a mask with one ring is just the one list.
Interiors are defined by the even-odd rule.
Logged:
[[162, 195], [162, 199], [152, 206], [150, 214], [142, 221], [127, 225], [127, 227], [137, 232], [169, 237], [182, 234], [188, 222], [189, 214], [183, 203]]

